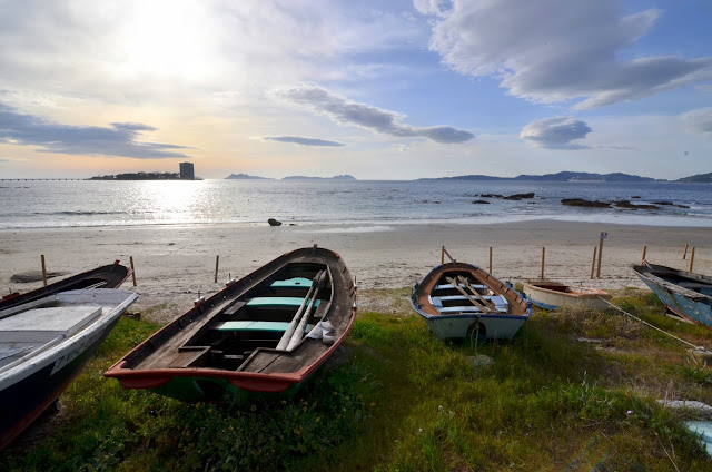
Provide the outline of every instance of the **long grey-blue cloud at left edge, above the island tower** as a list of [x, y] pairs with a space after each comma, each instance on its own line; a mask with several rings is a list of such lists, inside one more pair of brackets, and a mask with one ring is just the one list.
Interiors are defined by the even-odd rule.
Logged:
[[0, 142], [38, 146], [42, 153], [81, 156], [120, 156], [137, 159], [187, 157], [168, 149], [187, 149], [158, 142], [138, 142], [141, 131], [156, 128], [138, 122], [113, 122], [110, 128], [69, 126], [16, 111], [0, 104]]

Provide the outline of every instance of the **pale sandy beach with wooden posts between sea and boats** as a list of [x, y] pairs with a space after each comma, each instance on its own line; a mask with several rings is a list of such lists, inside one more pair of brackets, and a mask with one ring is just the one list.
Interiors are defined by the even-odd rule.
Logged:
[[[601, 278], [590, 279], [593, 248], [604, 240]], [[642, 287], [630, 265], [646, 258], [656, 264], [689, 268], [695, 246], [694, 272], [712, 273], [712, 230], [693, 227], [629, 226], [597, 223], [534, 220], [506, 224], [394, 224], [339, 226], [156, 226], [126, 228], [21, 229], [0, 232], [0, 289], [27, 292], [38, 283], [12, 283], [10, 277], [41, 268], [69, 274], [134, 257], [137, 286], [123, 288], [140, 298], [135, 311], [156, 321], [181, 314], [200, 295], [222, 287], [228, 277], [241, 277], [278, 255], [304, 246], [339, 253], [362, 289], [400, 288], [419, 281], [441, 262], [441, 247], [458, 260], [490, 264], [493, 274], [512, 282], [538, 278], [542, 247], [546, 247], [547, 278], [602, 288]], [[215, 283], [219, 256], [218, 283]], [[50, 279], [51, 282], [51, 279]], [[367, 298], [362, 298], [367, 305]], [[151, 309], [149, 309], [151, 308]]]

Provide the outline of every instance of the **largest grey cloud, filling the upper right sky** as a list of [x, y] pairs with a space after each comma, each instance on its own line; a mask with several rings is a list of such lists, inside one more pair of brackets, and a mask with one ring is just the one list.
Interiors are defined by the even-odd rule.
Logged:
[[532, 101], [576, 108], [634, 100], [712, 78], [712, 57], [621, 58], [661, 16], [625, 16], [617, 0], [535, 2], [416, 0], [433, 17], [429, 48], [463, 75], [494, 76]]

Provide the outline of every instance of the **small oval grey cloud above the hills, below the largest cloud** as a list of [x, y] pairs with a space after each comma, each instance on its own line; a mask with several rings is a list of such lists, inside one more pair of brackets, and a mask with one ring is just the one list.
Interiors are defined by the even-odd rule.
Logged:
[[590, 149], [590, 146], [571, 141], [583, 139], [591, 132], [585, 122], [566, 117], [544, 118], [532, 121], [522, 128], [520, 138], [526, 139], [535, 147], [545, 149]]

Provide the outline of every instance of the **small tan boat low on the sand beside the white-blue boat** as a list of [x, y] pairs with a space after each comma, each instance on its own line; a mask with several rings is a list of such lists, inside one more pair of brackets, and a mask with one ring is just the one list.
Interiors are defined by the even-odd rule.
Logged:
[[536, 306], [556, 309], [560, 306], [583, 306], [590, 309], [606, 309], [611, 294], [599, 288], [574, 287], [554, 281], [528, 281], [524, 294]]

